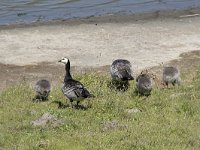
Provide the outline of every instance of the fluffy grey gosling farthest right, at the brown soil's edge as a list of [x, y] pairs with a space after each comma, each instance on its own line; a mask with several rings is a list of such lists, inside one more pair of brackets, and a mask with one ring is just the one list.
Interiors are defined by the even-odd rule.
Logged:
[[181, 78], [180, 72], [176, 67], [164, 67], [163, 68], [163, 82], [168, 87], [171, 83], [173, 86], [175, 84], [180, 85]]

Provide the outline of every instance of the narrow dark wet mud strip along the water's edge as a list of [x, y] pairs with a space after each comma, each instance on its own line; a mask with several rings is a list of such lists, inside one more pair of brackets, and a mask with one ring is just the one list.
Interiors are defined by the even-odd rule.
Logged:
[[0, 30], [4, 29], [15, 29], [15, 28], [26, 28], [26, 27], [37, 27], [37, 26], [51, 26], [51, 25], [81, 25], [81, 24], [95, 24], [95, 23], [120, 23], [120, 22], [137, 22], [140, 20], [148, 21], [154, 19], [178, 19], [184, 17], [195, 17], [200, 16], [200, 8], [189, 8], [181, 10], [166, 10], [166, 11], [155, 11], [155, 12], [143, 12], [135, 14], [106, 14], [102, 16], [89, 16], [85, 18], [70, 18], [61, 20], [51, 20], [43, 22], [30, 22], [30, 23], [16, 23], [0, 25]]

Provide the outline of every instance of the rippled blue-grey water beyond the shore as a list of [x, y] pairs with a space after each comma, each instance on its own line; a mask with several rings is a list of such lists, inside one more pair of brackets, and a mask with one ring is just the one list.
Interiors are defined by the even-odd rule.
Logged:
[[200, 7], [200, 0], [0, 0], [0, 25]]

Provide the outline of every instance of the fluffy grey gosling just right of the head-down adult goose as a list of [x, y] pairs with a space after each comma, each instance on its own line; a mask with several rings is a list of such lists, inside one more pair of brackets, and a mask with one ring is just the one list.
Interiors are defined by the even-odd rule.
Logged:
[[136, 78], [136, 92], [141, 96], [149, 96], [152, 91], [152, 79], [147, 73], [141, 72]]

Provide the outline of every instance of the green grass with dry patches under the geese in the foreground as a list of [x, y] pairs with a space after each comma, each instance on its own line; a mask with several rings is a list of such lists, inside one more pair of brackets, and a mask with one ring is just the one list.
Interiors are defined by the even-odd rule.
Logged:
[[[154, 89], [151, 96], [110, 90], [105, 75], [77, 75], [96, 96], [81, 105], [87, 110], [58, 109], [53, 101], [69, 103], [60, 86], [49, 101], [33, 103], [34, 92], [26, 83], [0, 95], [0, 149], [200, 149], [200, 69], [192, 80], [171, 89]], [[186, 75], [184, 77], [186, 79]], [[184, 79], [183, 79], [184, 80]], [[128, 113], [138, 108], [142, 112]], [[31, 121], [45, 112], [64, 124], [34, 127]], [[109, 126], [109, 122], [114, 122]]]

